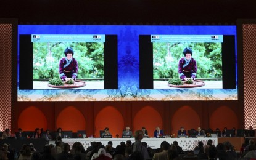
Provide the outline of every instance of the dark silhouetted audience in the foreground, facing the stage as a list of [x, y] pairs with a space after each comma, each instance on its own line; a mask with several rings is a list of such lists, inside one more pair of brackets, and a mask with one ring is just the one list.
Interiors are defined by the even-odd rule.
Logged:
[[[230, 142], [218, 143], [215, 147], [212, 140], [208, 140], [207, 145], [199, 142], [199, 146], [194, 151], [183, 151], [178, 142], [168, 143], [163, 141], [160, 148], [152, 150], [147, 143], [141, 142], [143, 134], [141, 130], [135, 132], [136, 142], [131, 143], [130, 140], [121, 142], [116, 148], [112, 147], [112, 142], [104, 146], [101, 142], [91, 142], [91, 146], [84, 148], [80, 142], [73, 144], [72, 148], [68, 143], [61, 140], [56, 145], [46, 145], [42, 153], [36, 151], [33, 145], [23, 145], [20, 151], [11, 150], [4, 144], [0, 150], [0, 159], [188, 159], [194, 156], [197, 159], [236, 159], [241, 155], [237, 155], [233, 145]], [[248, 146], [249, 150], [243, 154], [244, 158], [256, 158], [255, 143]]]

